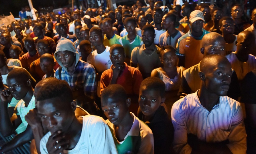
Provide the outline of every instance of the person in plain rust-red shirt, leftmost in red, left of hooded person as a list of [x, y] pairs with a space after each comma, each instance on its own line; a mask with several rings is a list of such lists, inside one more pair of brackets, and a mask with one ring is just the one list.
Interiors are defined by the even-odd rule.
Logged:
[[21, 64], [23, 68], [29, 71], [29, 67], [31, 63], [37, 60], [40, 57], [40, 55], [36, 50], [36, 44], [33, 38], [30, 38], [30, 37], [26, 38], [24, 41], [24, 45], [28, 52], [22, 55]]

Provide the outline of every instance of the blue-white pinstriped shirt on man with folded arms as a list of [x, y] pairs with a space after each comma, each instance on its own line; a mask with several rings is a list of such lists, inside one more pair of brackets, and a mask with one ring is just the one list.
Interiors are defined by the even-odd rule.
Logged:
[[173, 104], [173, 149], [176, 153], [191, 153], [192, 147], [187, 144], [187, 134], [194, 134], [207, 143], [228, 139], [227, 147], [233, 154], [246, 153], [246, 133], [240, 103], [224, 96], [208, 111], [201, 105], [197, 92]]

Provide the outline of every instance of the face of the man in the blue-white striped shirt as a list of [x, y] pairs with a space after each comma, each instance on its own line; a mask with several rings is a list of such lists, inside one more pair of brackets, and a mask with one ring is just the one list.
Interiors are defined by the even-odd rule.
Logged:
[[231, 81], [231, 65], [229, 62], [220, 62], [210, 67], [205, 73], [205, 87], [208, 92], [218, 96], [226, 96]]

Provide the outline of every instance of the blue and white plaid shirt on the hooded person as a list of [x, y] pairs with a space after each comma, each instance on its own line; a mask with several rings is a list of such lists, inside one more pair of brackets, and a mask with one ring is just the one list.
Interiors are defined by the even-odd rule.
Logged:
[[83, 88], [84, 94], [94, 100], [97, 82], [95, 69], [91, 64], [79, 60], [72, 76], [64, 69], [61, 69], [61, 77], [59, 77], [58, 68], [54, 77], [67, 81], [73, 91]]

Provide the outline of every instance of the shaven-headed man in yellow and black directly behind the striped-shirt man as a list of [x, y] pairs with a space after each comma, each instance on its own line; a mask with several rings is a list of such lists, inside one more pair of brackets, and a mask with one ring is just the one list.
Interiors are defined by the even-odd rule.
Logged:
[[[225, 40], [216, 32], [206, 34], [202, 39], [202, 46], [200, 50], [204, 57], [212, 54], [225, 56]], [[200, 89], [201, 79], [198, 77], [198, 73], [200, 72], [199, 65], [200, 63], [183, 71], [183, 77], [181, 79], [181, 86], [179, 89], [180, 97], [184, 97], [189, 93], [195, 93]], [[227, 96], [235, 100], [240, 97], [240, 88], [235, 71], [232, 71], [231, 83]]]

